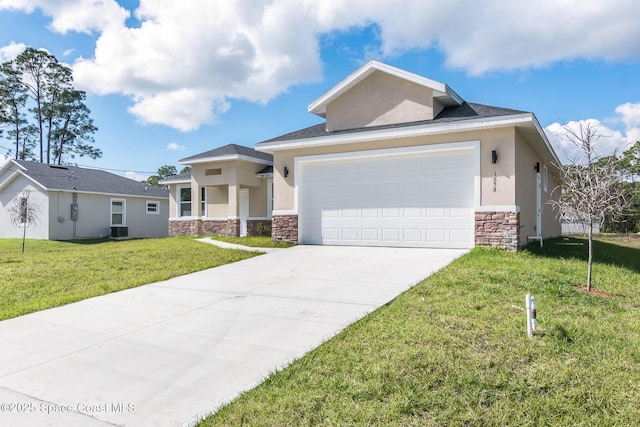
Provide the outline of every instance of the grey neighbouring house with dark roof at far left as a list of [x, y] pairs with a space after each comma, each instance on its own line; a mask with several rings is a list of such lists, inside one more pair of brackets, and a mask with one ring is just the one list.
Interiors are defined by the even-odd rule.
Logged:
[[[36, 207], [39, 220], [15, 225], [21, 203]], [[0, 160], [0, 237], [22, 237], [25, 226], [33, 239], [165, 237], [168, 218], [164, 188], [102, 170]]]

